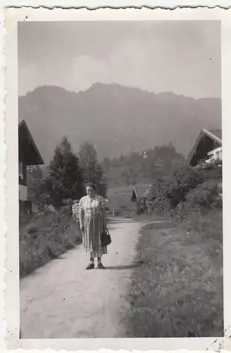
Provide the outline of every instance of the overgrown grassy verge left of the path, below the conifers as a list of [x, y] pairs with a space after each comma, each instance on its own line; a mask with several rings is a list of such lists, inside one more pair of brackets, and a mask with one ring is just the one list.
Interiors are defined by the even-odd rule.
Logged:
[[80, 244], [82, 236], [76, 221], [62, 211], [39, 215], [20, 227], [20, 277], [57, 258]]

